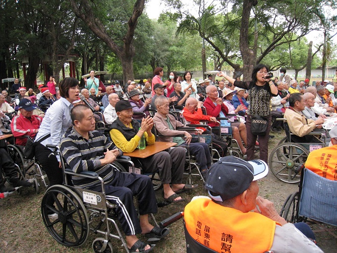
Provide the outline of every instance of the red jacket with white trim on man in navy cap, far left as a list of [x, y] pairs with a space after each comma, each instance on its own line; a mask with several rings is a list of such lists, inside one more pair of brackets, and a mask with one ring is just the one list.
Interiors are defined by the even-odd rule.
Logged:
[[32, 115], [30, 120], [23, 117], [22, 114], [15, 116], [10, 124], [17, 145], [25, 146], [28, 137], [34, 137], [34, 129], [39, 129], [42, 118]]

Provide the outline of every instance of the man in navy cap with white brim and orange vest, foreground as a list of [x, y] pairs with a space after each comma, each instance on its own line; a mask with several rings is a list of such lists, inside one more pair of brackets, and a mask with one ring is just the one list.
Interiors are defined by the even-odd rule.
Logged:
[[271, 201], [258, 196], [256, 180], [268, 174], [264, 161], [226, 156], [207, 174], [211, 198], [196, 197], [184, 210], [188, 234], [208, 248], [202, 252], [323, 252], [307, 224], [287, 223]]

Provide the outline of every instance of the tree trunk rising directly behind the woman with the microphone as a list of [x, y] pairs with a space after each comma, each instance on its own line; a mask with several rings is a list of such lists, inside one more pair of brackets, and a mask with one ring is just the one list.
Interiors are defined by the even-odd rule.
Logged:
[[254, 52], [249, 48], [248, 27], [252, 6], [257, 4], [257, 0], [243, 0], [242, 17], [240, 27], [240, 52], [243, 61], [243, 81], [250, 81], [254, 65]]

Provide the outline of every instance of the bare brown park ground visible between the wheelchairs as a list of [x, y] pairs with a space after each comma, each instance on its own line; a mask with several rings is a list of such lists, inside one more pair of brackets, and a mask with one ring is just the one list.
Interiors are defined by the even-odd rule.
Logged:
[[[284, 136], [284, 131], [277, 134], [269, 142], [269, 153]], [[258, 156], [257, 156], [258, 158]], [[197, 178], [195, 178], [194, 183]], [[41, 184], [40, 184], [41, 185]], [[286, 184], [278, 180], [271, 172], [268, 176], [259, 180], [260, 195], [273, 201], [278, 211], [285, 198], [298, 189], [297, 184]], [[21, 195], [11, 194], [9, 197], [0, 199], [0, 252], [3, 253], [92, 253], [93, 240], [100, 237], [90, 233], [87, 242], [79, 248], [67, 248], [58, 244], [47, 232], [40, 211], [41, 199], [45, 188], [40, 188], [36, 194], [34, 189], [24, 190]], [[162, 201], [161, 192], [156, 192], [158, 201]], [[159, 208], [156, 214], [158, 222], [170, 215], [183, 211], [184, 206], [195, 195], [207, 195], [199, 181], [199, 187], [193, 193], [181, 194], [186, 200]], [[315, 225], [313, 227], [317, 229]], [[186, 252], [186, 244], [182, 220], [170, 225], [171, 232], [167, 238], [157, 243], [154, 253], [183, 253]], [[335, 231], [337, 235], [337, 231]], [[327, 232], [316, 233], [317, 243], [325, 253], [337, 253], [337, 239]], [[112, 240], [114, 252], [125, 252], [120, 242]]]

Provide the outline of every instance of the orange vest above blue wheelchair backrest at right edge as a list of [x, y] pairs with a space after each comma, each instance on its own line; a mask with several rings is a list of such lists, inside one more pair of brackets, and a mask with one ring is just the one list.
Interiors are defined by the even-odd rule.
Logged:
[[337, 181], [337, 145], [313, 150], [305, 167], [323, 178]]

